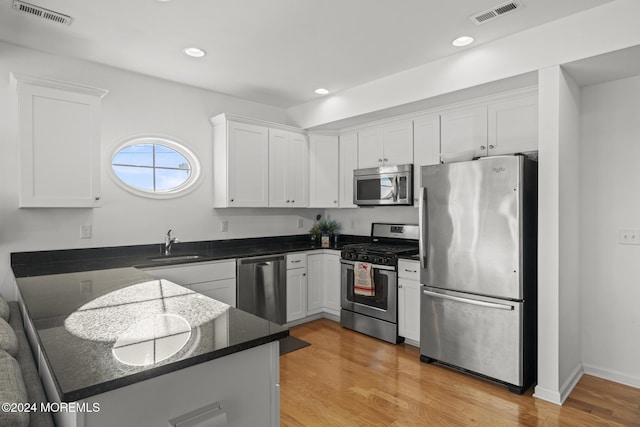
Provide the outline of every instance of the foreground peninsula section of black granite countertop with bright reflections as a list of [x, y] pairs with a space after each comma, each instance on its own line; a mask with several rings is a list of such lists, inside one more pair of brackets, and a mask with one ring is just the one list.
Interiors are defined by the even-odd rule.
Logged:
[[17, 283], [63, 402], [289, 335], [282, 326], [132, 267]]

